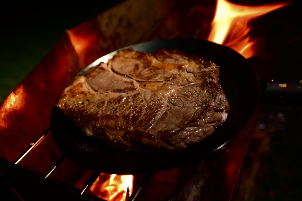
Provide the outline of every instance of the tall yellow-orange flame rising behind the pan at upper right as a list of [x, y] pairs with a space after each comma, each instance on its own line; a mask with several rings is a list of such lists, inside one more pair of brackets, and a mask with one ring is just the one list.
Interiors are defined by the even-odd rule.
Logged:
[[255, 55], [255, 40], [249, 35], [251, 20], [281, 8], [289, 3], [271, 3], [262, 6], [244, 6], [217, 0], [209, 41], [224, 44], [250, 58]]

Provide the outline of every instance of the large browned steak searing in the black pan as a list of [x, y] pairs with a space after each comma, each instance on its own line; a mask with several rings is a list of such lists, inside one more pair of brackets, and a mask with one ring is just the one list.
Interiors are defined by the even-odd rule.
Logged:
[[219, 67], [178, 50], [120, 50], [74, 78], [56, 106], [85, 135], [122, 150], [173, 151], [226, 121]]

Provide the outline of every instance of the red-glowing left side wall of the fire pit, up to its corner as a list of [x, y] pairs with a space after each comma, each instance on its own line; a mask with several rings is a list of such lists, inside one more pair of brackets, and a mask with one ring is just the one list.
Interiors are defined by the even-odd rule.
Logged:
[[[65, 35], [0, 104], [0, 157], [14, 162], [50, 126], [50, 114], [62, 87], [80, 69]], [[57, 148], [51, 144], [41, 152], [43, 149]], [[51, 154], [50, 150], [46, 153]]]

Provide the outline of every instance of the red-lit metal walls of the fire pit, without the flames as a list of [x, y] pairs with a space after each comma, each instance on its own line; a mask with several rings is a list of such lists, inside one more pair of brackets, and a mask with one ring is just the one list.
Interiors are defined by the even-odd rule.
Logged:
[[[164, 38], [206, 39], [214, 10], [213, 1], [128, 0], [68, 30], [1, 103], [0, 157], [14, 162], [50, 126], [50, 114], [60, 90], [88, 64], [137, 42]], [[215, 167], [208, 180], [210, 185], [201, 190], [207, 194], [208, 200], [230, 199], [256, 119], [257, 113], [243, 131], [219, 151], [218, 156], [205, 159]], [[38, 149], [22, 164], [45, 174], [62, 153], [49, 136]], [[154, 196], [170, 199], [177, 196], [175, 192], [183, 193], [177, 190], [176, 179], [169, 195], [158, 196], [163, 194], [162, 191], [154, 194], [155, 190], [168, 187], [164, 181], [157, 181], [156, 175], [151, 177], [148, 189], [143, 192], [149, 200], [159, 200]]]

